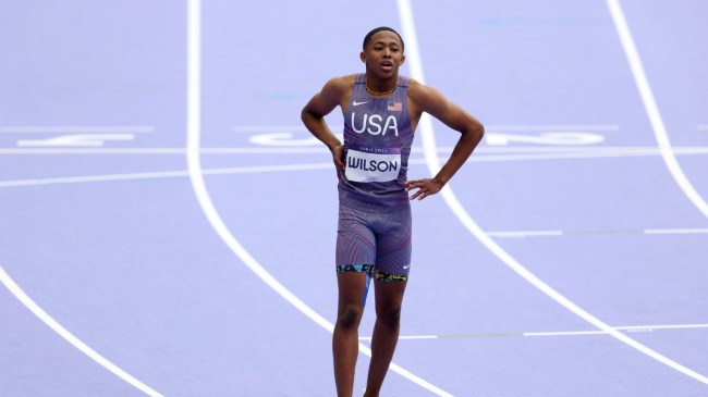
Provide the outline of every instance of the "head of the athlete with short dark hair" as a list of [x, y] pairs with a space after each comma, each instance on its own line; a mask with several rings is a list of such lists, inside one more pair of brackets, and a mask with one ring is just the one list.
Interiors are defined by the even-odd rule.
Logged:
[[405, 61], [401, 40], [390, 30], [381, 30], [371, 36], [361, 58], [366, 64], [366, 72], [381, 78], [396, 75], [399, 67]]

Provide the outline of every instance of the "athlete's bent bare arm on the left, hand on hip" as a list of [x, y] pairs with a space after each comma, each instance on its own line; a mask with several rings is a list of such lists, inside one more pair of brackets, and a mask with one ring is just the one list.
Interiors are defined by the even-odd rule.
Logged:
[[334, 165], [343, 170], [344, 161], [342, 154], [344, 153], [344, 146], [332, 134], [329, 125], [325, 121], [325, 116], [329, 114], [334, 108], [341, 106], [346, 107], [352, 91], [353, 82], [351, 76], [335, 77], [327, 82], [322, 90], [317, 92], [313, 99], [305, 104], [301, 113], [301, 119], [305, 127], [322, 144], [325, 144], [332, 152]]

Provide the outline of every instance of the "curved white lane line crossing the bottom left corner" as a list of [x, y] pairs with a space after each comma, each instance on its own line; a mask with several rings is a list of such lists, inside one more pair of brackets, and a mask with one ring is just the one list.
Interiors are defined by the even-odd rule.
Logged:
[[4, 269], [2, 269], [2, 265], [0, 265], [0, 282], [5, 286], [5, 288], [8, 288], [8, 290], [10, 290], [12, 295], [14, 295], [15, 298], [17, 298], [17, 300], [20, 300], [22, 305], [24, 305], [25, 308], [27, 308], [33, 314], [35, 314], [39, 320], [41, 320], [45, 324], [47, 324], [47, 326], [49, 326], [54, 333], [57, 333], [59, 336], [64, 338], [64, 340], [69, 342], [81, 352], [88, 356], [88, 358], [96, 361], [98, 364], [100, 364], [101, 367], [103, 367], [105, 369], [107, 369], [118, 377], [122, 379], [123, 381], [127, 382], [135, 388], [145, 393], [146, 395], [155, 396], [155, 397], [162, 396], [161, 394], [159, 394], [148, 385], [135, 379], [130, 373], [120, 369], [118, 365], [112, 363], [103, 356], [99, 355], [96, 350], [91, 349], [88, 345], [86, 345], [84, 342], [77, 338], [74, 334], [69, 332], [69, 330], [63, 327], [51, 315], [49, 315], [42, 308], [40, 308], [39, 305], [37, 305], [34, 300], [32, 300], [32, 298], [27, 294], [25, 294], [25, 291], [14, 282], [14, 280], [12, 280], [12, 277], [10, 277], [10, 275], [4, 271]]

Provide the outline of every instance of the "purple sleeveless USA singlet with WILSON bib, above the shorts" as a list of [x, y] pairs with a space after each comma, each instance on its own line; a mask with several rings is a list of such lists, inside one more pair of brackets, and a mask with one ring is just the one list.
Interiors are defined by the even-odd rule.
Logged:
[[356, 75], [344, 115], [344, 171], [339, 172], [340, 206], [379, 212], [408, 206], [405, 181], [414, 131], [408, 115], [408, 78], [399, 76], [384, 98], [366, 91]]

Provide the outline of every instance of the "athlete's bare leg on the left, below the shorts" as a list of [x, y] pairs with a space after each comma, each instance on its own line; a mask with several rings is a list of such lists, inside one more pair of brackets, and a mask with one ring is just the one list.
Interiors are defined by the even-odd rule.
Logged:
[[351, 397], [354, 370], [358, 357], [358, 326], [364, 313], [365, 272], [343, 272], [337, 275], [339, 305], [332, 336], [334, 383], [339, 397]]

